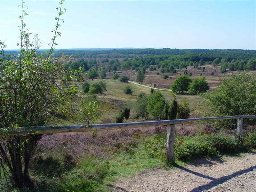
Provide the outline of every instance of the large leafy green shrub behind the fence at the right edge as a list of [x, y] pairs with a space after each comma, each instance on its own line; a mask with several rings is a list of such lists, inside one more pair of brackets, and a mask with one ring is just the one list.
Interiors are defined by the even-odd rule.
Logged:
[[[224, 78], [215, 91], [203, 94], [208, 109], [204, 116], [256, 115], [256, 76], [241, 72], [231, 78]], [[245, 124], [255, 123], [255, 119], [244, 119]], [[236, 119], [214, 121], [214, 126], [223, 129], [236, 127]]]

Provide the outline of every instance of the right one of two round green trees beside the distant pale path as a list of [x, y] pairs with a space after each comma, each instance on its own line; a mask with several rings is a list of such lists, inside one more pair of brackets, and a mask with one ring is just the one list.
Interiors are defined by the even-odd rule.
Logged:
[[189, 94], [197, 95], [199, 93], [204, 93], [209, 90], [209, 85], [205, 80], [205, 77], [195, 78], [194, 81], [188, 86]]

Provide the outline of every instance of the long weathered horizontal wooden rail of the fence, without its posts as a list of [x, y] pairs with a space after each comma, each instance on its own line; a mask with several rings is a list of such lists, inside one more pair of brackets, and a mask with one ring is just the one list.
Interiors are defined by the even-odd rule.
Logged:
[[[144, 122], [132, 122], [132, 123], [114, 123], [114, 124], [93, 124], [93, 125], [60, 125], [60, 126], [31, 126], [26, 128], [15, 128], [8, 135], [19, 134], [49, 134], [49, 133], [67, 133], [67, 132], [90, 132], [92, 130], [115, 130], [115, 129], [130, 129], [130, 128], [142, 128], [159, 125], [181, 124], [181, 123], [193, 123], [201, 121], [213, 121], [224, 119], [239, 119], [239, 118], [256, 118], [256, 116], [224, 116], [224, 117], [205, 117], [205, 118], [193, 118], [193, 119], [175, 119], [175, 120], [163, 120], [163, 121], [144, 121]], [[0, 136], [3, 135], [4, 129]], [[1, 130], [0, 129], [0, 130]]]

